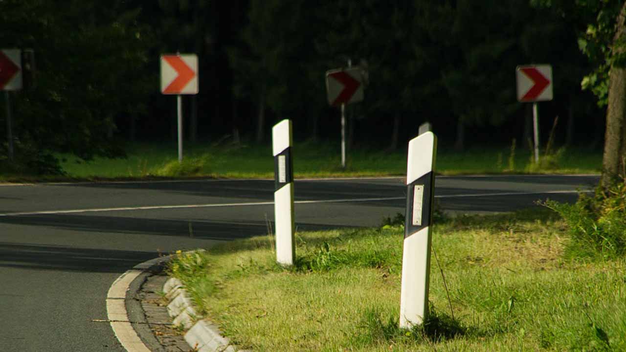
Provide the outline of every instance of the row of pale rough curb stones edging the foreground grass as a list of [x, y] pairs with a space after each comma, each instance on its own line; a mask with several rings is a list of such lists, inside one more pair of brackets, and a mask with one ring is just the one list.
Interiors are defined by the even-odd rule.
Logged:
[[197, 320], [196, 309], [180, 280], [173, 277], [168, 279], [163, 285], [163, 294], [170, 301], [167, 311], [174, 319], [174, 324], [188, 329], [185, 333], [185, 341], [193, 351], [252, 352], [248, 349], [238, 349], [237, 346], [230, 344], [228, 338], [222, 336], [217, 325], [207, 319]]

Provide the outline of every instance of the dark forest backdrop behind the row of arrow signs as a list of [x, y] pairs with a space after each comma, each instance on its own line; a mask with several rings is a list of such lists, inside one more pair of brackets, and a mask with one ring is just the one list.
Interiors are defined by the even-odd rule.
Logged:
[[192, 140], [239, 140], [240, 130], [267, 140], [282, 118], [299, 140], [337, 139], [324, 72], [348, 60], [366, 78], [365, 100], [348, 113], [358, 145], [399, 147], [425, 121], [442, 146], [523, 140], [515, 66], [528, 63], [554, 68], [555, 101], [542, 111], [568, 111], [585, 136], [595, 116], [578, 111], [597, 107], [580, 82], [602, 101], [606, 65], [621, 62], [603, 60], [618, 1], [532, 2], [3, 0], [3, 47], [33, 48], [37, 63], [33, 90], [11, 95], [13, 167], [46, 168], [56, 152], [120, 155], [126, 136], [170, 139], [175, 104], [158, 90], [158, 56], [176, 51], [200, 58], [200, 94], [183, 100]]

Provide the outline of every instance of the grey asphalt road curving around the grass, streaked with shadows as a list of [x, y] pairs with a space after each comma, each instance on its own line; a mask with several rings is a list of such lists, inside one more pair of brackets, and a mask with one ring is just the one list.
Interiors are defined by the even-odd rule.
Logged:
[[[438, 177], [451, 212], [572, 201], [597, 176]], [[298, 230], [379, 225], [404, 213], [402, 179], [301, 180]], [[123, 351], [105, 296], [121, 273], [177, 249], [262, 235], [272, 180], [0, 186], [0, 351]], [[190, 228], [193, 236], [190, 236]]]

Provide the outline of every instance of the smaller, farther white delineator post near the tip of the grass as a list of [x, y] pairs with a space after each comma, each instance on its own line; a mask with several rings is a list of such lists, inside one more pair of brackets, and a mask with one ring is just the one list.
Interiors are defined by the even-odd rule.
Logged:
[[293, 265], [295, 260], [292, 141], [290, 120], [282, 120], [272, 128], [276, 261], [282, 265]]

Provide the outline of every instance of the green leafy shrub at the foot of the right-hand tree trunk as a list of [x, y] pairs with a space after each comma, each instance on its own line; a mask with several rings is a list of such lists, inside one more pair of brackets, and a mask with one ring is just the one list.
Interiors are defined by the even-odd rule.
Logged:
[[567, 222], [572, 249], [578, 256], [605, 259], [626, 255], [626, 179], [592, 197], [581, 194], [575, 204], [541, 203]]

